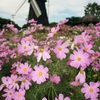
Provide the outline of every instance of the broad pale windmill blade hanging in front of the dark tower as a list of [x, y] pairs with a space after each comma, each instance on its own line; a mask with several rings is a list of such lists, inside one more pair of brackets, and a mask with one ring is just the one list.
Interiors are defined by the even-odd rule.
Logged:
[[41, 12], [37, 2], [35, 0], [30, 0], [30, 3], [32, 5], [32, 8], [33, 8], [36, 16], [39, 17], [42, 14], [42, 12]]

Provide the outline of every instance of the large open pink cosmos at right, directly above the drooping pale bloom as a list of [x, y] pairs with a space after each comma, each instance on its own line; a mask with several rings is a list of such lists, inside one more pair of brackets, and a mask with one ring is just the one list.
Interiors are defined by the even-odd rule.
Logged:
[[74, 54], [70, 55], [70, 60], [70, 65], [75, 68], [82, 67], [85, 69], [90, 64], [89, 54], [83, 50], [74, 51]]

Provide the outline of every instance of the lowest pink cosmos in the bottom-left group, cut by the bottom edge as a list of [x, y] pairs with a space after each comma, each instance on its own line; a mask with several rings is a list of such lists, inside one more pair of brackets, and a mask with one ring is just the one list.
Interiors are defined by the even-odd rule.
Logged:
[[25, 90], [20, 89], [18, 92], [15, 92], [13, 99], [14, 100], [25, 100]]

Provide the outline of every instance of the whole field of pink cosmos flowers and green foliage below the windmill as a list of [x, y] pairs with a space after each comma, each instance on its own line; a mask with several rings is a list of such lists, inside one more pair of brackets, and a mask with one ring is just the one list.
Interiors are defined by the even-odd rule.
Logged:
[[67, 22], [0, 31], [0, 100], [100, 100], [100, 23]]

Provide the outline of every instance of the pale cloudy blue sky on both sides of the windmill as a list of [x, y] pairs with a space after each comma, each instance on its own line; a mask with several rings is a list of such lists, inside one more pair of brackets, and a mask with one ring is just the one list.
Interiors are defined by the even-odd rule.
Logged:
[[[27, 23], [29, 13], [28, 0], [19, 11], [12, 16], [20, 4], [25, 0], [0, 0], [0, 17], [11, 19], [19, 26]], [[100, 0], [47, 0], [45, 3], [49, 22], [59, 22], [68, 17], [84, 16], [84, 9], [88, 3], [96, 2], [100, 5]]]

